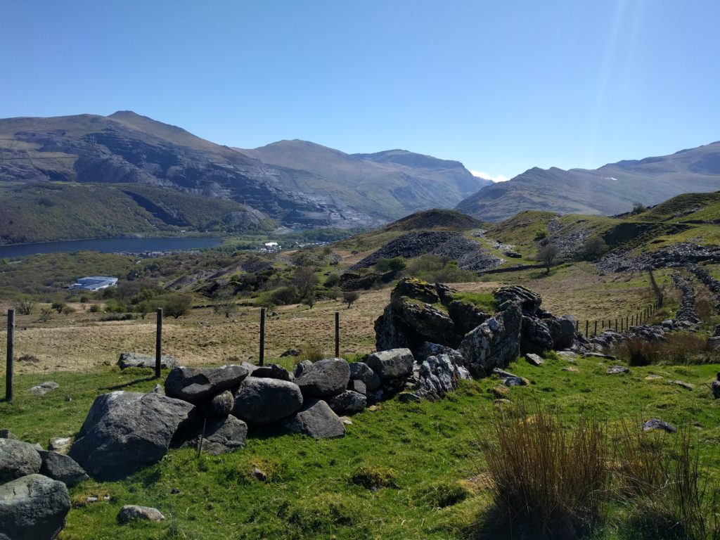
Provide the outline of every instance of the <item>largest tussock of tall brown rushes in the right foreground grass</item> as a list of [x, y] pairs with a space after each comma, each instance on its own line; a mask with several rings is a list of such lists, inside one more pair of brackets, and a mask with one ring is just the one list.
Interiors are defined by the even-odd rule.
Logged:
[[[603, 425], [581, 419], [575, 429], [539, 405], [528, 416], [495, 415], [485, 459], [496, 512], [549, 538], [576, 538], [600, 518], [608, 492]], [[513, 415], [514, 416], [514, 415]]]

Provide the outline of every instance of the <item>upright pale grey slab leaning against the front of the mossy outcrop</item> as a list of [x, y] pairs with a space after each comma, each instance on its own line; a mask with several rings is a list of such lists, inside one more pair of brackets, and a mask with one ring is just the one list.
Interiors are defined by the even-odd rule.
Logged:
[[520, 354], [522, 314], [517, 304], [505, 304], [498, 315], [478, 326], [460, 343], [470, 373], [484, 377], [495, 367], [505, 367]]

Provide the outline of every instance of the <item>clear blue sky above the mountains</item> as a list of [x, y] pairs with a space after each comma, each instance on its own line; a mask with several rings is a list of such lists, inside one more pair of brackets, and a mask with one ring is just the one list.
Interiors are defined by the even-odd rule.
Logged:
[[405, 148], [507, 177], [720, 140], [719, 0], [0, 8], [0, 117], [130, 109], [241, 148]]

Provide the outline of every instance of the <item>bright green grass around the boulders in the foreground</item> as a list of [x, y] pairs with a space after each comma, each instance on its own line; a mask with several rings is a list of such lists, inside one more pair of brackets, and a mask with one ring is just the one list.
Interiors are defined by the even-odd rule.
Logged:
[[[580, 372], [562, 371], [571, 365]], [[720, 423], [705, 384], [720, 366], [634, 367], [630, 374], [608, 376], [607, 365], [598, 359], [571, 364], [552, 354], [540, 368], [516, 361], [508, 369], [532, 384], [510, 388], [510, 400], [538, 400], [568, 425], [591, 415], [609, 426], [654, 417], [692, 426], [701, 458], [710, 460], [716, 477]], [[50, 437], [76, 433], [94, 397], [108, 387], [132, 383], [125, 390], [150, 390], [155, 381], [149, 373], [58, 373], [60, 389], [40, 398], [25, 389], [45, 379], [17, 377], [16, 400], [0, 403], [2, 427], [45, 446]], [[649, 374], [662, 379], [645, 380]], [[675, 379], [695, 389], [670, 384]], [[497, 383], [493, 378], [464, 382], [438, 402], [384, 402], [354, 416], [341, 439], [256, 435], [242, 451], [199, 461], [192, 450], [170, 451], [159, 464], [123, 482], [73, 487], [73, 500], [98, 492], [111, 500], [74, 506], [60, 538], [475, 538], [490, 508], [478, 445], [491, 426], [496, 406], [490, 390]], [[254, 467], [269, 482], [255, 480]], [[365, 487], [376, 480], [386, 487]], [[118, 526], [116, 516], [125, 504], [155, 506], [167, 520]], [[630, 538], [621, 509], [610, 517], [597, 537]]]

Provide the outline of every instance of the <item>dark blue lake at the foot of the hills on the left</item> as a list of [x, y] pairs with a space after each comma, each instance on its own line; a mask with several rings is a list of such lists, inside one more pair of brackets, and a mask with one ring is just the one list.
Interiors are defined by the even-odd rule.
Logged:
[[222, 238], [94, 238], [89, 240], [67, 240], [37, 244], [0, 246], [0, 258], [23, 257], [36, 253], [72, 253], [73, 251], [100, 251], [114, 253], [127, 251], [183, 251], [188, 249], [214, 248], [220, 246]]

